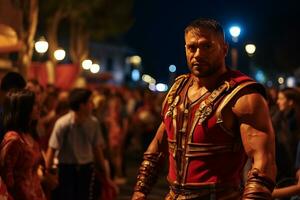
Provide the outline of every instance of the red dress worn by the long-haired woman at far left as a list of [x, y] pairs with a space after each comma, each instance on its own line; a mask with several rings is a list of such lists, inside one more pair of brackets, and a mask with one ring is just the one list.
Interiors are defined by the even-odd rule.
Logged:
[[8, 132], [1, 143], [0, 172], [14, 199], [45, 200], [37, 174], [42, 155], [36, 142], [27, 144], [25, 134]]

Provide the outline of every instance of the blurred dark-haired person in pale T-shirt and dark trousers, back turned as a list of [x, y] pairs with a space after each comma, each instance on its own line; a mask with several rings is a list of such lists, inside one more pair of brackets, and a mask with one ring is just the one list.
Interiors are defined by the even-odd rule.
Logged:
[[[58, 152], [58, 200], [98, 199], [100, 187], [109, 186], [114, 190], [116, 187], [105, 168], [104, 140], [98, 120], [92, 116], [92, 92], [83, 88], [71, 90], [69, 106], [70, 112], [54, 125], [46, 153], [46, 169], [51, 169]], [[104, 180], [101, 186], [96, 184], [97, 174]]]

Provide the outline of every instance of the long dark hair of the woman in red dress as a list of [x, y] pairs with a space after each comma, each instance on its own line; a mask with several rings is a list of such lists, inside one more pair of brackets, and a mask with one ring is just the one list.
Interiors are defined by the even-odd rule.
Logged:
[[3, 102], [3, 125], [5, 131], [26, 132], [30, 129], [35, 94], [27, 89], [11, 90]]

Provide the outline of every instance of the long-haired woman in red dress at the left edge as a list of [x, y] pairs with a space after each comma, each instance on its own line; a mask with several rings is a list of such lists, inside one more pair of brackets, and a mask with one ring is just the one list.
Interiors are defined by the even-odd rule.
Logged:
[[38, 167], [43, 162], [31, 134], [31, 122], [39, 117], [35, 94], [9, 91], [3, 102], [4, 138], [0, 145], [0, 175], [9, 194], [18, 200], [44, 200]]

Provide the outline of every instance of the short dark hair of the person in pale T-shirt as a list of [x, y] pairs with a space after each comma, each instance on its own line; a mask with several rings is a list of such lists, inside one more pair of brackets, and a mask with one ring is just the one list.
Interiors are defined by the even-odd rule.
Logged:
[[89, 89], [75, 88], [69, 95], [69, 105], [71, 110], [78, 111], [80, 104], [87, 103], [92, 92]]

